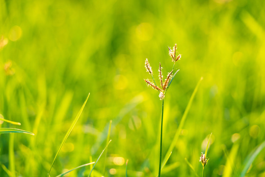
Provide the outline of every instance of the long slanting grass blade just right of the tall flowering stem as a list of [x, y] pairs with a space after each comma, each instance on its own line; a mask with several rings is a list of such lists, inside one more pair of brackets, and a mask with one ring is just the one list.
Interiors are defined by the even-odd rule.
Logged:
[[[198, 84], [196, 85], [195, 89], [193, 90], [193, 93], [192, 93], [192, 95], [191, 95], [191, 97], [190, 97], [190, 99], [189, 99], [189, 101], [188, 101], [188, 104], [187, 104], [187, 107], [186, 107], [186, 109], [185, 109], [185, 112], [184, 112], [184, 114], [183, 114], [183, 116], [182, 116], [182, 118], [181, 118], [181, 122], [180, 122], [180, 125], [179, 125], [179, 127], [178, 127], [178, 130], [177, 130], [177, 132], [176, 132], [176, 134], [175, 134], [175, 136], [174, 136], [174, 138], [173, 138], [173, 141], [172, 141], [172, 143], [171, 143], [169, 149], [168, 149], [167, 152], [166, 152], [165, 157], [167, 157], [167, 156], [170, 154], [170, 152], [173, 151], [173, 149], [174, 149], [174, 147], [175, 147], [175, 145], [176, 145], [176, 143], [177, 143], [177, 141], [178, 141], [178, 139], [179, 139], [179, 136], [180, 136], [181, 130], [182, 130], [183, 126], [184, 126], [184, 122], [185, 122], [185, 119], [186, 119], [187, 114], [188, 114], [188, 111], [189, 111], [189, 109], [190, 109], [190, 107], [191, 107], [191, 104], [192, 104], [192, 102], [193, 102], [193, 99], [194, 99], [194, 97], [195, 97], [195, 94], [197, 93], [197, 90], [198, 90], [199, 85], [200, 85], [200, 83], [201, 83], [202, 80], [203, 80], [203, 78], [201, 77], [201, 79], [199, 80], [199, 82], [198, 82]], [[165, 159], [164, 159], [164, 161], [163, 161], [163, 164], [165, 164]]]

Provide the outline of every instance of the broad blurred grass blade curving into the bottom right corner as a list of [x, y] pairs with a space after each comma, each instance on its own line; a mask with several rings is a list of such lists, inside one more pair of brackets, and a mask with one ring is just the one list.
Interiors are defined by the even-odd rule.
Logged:
[[247, 170], [249, 169], [252, 162], [255, 160], [255, 158], [259, 155], [259, 153], [262, 151], [262, 149], [265, 148], [265, 141], [259, 145], [257, 148], [255, 148], [246, 158], [244, 168], [241, 172], [240, 177], [244, 177], [247, 173]]

